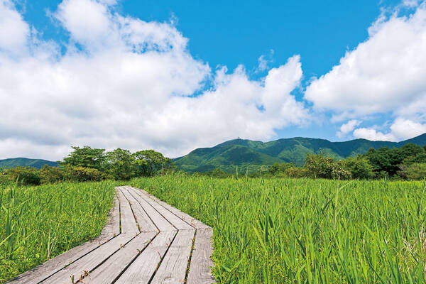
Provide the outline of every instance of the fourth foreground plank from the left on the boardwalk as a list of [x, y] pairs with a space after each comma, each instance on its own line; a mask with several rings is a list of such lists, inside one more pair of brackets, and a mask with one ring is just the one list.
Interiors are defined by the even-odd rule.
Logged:
[[146, 284], [158, 268], [178, 231], [160, 231], [151, 244], [131, 263], [115, 284]]

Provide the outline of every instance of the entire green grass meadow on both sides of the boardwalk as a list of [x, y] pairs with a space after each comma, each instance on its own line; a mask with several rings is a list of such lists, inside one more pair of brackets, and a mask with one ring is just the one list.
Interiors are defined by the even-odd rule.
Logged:
[[[125, 182], [214, 228], [218, 283], [425, 283], [426, 182], [165, 175]], [[0, 282], [97, 236], [117, 182], [4, 186]]]

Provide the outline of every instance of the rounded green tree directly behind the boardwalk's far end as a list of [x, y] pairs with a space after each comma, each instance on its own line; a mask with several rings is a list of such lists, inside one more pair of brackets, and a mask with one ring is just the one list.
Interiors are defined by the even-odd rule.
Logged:
[[116, 148], [106, 155], [108, 164], [108, 173], [116, 180], [129, 180], [133, 177], [133, 155], [129, 150]]

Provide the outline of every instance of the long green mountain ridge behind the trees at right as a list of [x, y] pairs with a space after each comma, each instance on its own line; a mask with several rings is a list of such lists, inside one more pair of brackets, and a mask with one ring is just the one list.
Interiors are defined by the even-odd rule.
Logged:
[[420, 146], [426, 144], [426, 133], [401, 142], [369, 141], [355, 139], [345, 142], [331, 142], [317, 138], [283, 138], [270, 142], [234, 139], [220, 143], [212, 148], [197, 148], [191, 153], [176, 158], [176, 165], [190, 172], [207, 172], [222, 168], [228, 172], [240, 169], [256, 170], [261, 165], [273, 163], [295, 163], [303, 165], [307, 153], [327, 153], [334, 158], [347, 158], [351, 155], [364, 154], [369, 148], [399, 148], [407, 143]]

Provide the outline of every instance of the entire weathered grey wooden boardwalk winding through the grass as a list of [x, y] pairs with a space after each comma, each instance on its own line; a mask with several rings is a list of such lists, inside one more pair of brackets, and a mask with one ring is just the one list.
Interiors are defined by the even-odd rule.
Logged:
[[214, 283], [212, 228], [135, 187], [116, 194], [97, 239], [10, 283]]

